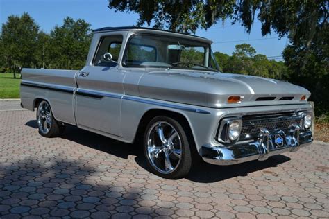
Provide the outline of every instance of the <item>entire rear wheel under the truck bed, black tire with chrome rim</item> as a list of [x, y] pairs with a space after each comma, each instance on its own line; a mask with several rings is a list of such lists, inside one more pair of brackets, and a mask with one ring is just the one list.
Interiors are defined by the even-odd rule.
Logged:
[[[40, 116], [42, 116], [42, 109], [41, 107], [44, 107], [44, 109], [49, 111], [50, 114], [47, 114], [47, 119], [50, 122], [47, 123], [47, 128], [44, 128], [44, 120], [47, 119], [41, 119]], [[47, 138], [53, 138], [53, 137], [59, 137], [62, 132], [65, 130], [65, 125], [60, 124], [56, 119], [53, 117], [53, 112], [51, 111], [51, 106], [46, 100], [41, 100], [40, 103], [37, 105], [37, 128], [39, 130], [39, 134], [41, 134], [43, 137]], [[42, 124], [43, 123], [43, 124]], [[45, 132], [47, 130], [47, 132]]]

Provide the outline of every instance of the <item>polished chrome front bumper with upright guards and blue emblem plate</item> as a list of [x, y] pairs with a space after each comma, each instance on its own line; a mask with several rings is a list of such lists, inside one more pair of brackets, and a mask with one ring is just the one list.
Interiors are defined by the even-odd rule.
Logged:
[[[278, 134], [283, 140], [280, 147], [272, 139]], [[246, 161], [266, 160], [283, 152], [295, 152], [303, 146], [310, 145], [312, 141], [312, 132], [310, 130], [300, 132], [298, 125], [293, 126], [288, 133], [283, 131], [270, 133], [268, 130], [262, 129], [257, 141], [239, 143], [233, 146], [204, 145], [201, 147], [201, 156], [204, 161], [210, 164], [233, 165]]]

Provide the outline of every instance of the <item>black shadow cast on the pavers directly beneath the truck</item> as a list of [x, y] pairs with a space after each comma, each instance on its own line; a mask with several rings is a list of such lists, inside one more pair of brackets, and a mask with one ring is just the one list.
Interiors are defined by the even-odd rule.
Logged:
[[[28, 121], [25, 125], [37, 128], [35, 120]], [[123, 143], [71, 125], [67, 125], [62, 138], [124, 159], [127, 159], [129, 155], [133, 155], [139, 166], [149, 170], [142, 152], [142, 145], [140, 144]], [[207, 164], [204, 161], [198, 161], [194, 164], [192, 171], [186, 178], [193, 182], [218, 182], [237, 176], [247, 176], [249, 173], [276, 167], [289, 160], [290, 158], [285, 155], [276, 155], [270, 157], [267, 161], [249, 161], [248, 163], [233, 166], [216, 166]], [[272, 173], [271, 171], [268, 172]], [[276, 173], [272, 173], [272, 175], [276, 176]]]

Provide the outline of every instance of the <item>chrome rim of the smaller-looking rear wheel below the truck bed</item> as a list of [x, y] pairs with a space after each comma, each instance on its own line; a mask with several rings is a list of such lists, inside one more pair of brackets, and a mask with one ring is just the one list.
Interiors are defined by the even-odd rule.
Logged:
[[47, 134], [51, 128], [52, 114], [49, 103], [42, 101], [37, 107], [37, 125], [40, 132]]

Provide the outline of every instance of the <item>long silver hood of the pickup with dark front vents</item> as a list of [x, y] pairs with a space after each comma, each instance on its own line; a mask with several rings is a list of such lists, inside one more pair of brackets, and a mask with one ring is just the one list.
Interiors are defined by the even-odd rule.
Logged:
[[[204, 107], [301, 104], [310, 96], [303, 87], [289, 82], [212, 71], [171, 69], [149, 71], [139, 82], [140, 96]], [[241, 103], [227, 103], [229, 96], [242, 96]]]

